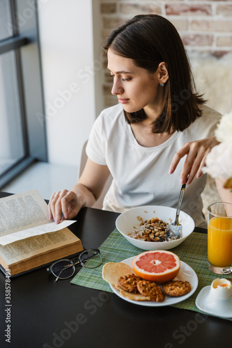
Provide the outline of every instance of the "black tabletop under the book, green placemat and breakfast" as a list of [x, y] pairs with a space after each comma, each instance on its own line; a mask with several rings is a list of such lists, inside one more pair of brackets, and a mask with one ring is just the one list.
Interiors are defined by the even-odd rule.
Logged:
[[[84, 248], [96, 248], [114, 230], [117, 216], [84, 208], [70, 230]], [[70, 279], [55, 283], [45, 267], [11, 278], [8, 343], [5, 280], [1, 273], [0, 347], [231, 347], [229, 320], [171, 306], [136, 306], [116, 294], [72, 285]]]

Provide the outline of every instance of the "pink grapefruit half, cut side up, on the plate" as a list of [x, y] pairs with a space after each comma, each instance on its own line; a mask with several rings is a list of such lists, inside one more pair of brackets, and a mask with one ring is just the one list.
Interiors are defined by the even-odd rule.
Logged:
[[137, 276], [162, 284], [173, 280], [180, 271], [180, 259], [167, 250], [145, 251], [132, 262]]

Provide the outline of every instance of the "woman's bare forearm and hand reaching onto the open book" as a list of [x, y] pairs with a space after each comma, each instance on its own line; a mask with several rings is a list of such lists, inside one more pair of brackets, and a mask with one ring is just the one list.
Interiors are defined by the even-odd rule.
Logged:
[[82, 207], [91, 207], [100, 197], [109, 177], [109, 168], [87, 159], [84, 171], [77, 184], [70, 191], [63, 190], [52, 193], [49, 200], [49, 219], [56, 223], [63, 218], [72, 219]]

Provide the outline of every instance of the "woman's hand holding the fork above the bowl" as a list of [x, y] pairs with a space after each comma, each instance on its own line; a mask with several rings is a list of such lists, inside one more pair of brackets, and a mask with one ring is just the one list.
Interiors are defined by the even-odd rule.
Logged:
[[169, 174], [176, 170], [180, 159], [187, 155], [180, 175], [180, 184], [184, 184], [186, 181], [187, 184], [191, 184], [195, 175], [196, 177], [201, 177], [201, 169], [206, 165], [206, 156], [210, 150], [218, 144], [219, 141], [217, 141], [215, 136], [186, 143], [183, 148], [174, 155], [169, 167]]

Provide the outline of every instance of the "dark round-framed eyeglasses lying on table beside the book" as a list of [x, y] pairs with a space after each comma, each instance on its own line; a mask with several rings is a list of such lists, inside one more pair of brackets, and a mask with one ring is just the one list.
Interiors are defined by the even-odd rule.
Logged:
[[[86, 264], [86, 262], [88, 263]], [[63, 259], [54, 262], [52, 266], [47, 267], [48, 272], [56, 277], [56, 281], [59, 279], [68, 279], [75, 273], [75, 266], [82, 266], [86, 268], [97, 268], [102, 264], [102, 256], [98, 249], [88, 249], [83, 251], [78, 256], [78, 261], [73, 262], [72, 260]]]

